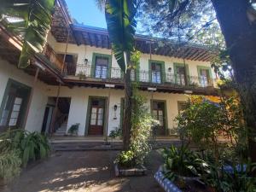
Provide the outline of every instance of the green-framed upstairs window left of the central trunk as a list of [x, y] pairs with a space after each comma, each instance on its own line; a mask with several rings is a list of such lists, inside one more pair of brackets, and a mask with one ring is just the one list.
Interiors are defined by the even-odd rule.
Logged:
[[112, 56], [93, 53], [91, 65], [91, 77], [108, 79], [111, 76]]

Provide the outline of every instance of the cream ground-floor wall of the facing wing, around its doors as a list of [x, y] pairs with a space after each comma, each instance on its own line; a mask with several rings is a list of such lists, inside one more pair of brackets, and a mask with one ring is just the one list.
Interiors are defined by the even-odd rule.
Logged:
[[[95, 88], [83, 88], [73, 87], [73, 89], [67, 87], [61, 87], [60, 96], [71, 97], [70, 111], [67, 121], [67, 129], [76, 123], [79, 123], [79, 136], [84, 136], [85, 124], [86, 124], [86, 113], [88, 108], [89, 96], [109, 96], [109, 115], [108, 115], [108, 134], [110, 131], [119, 127], [120, 123], [120, 102], [121, 98], [124, 98], [124, 90], [108, 90], [108, 89], [95, 89]], [[56, 96], [56, 86], [48, 86], [47, 95]], [[142, 95], [147, 97], [147, 106], [150, 108], [150, 100], [163, 100], [166, 101], [167, 109], [167, 122], [168, 128], [172, 129], [175, 127], [173, 120], [177, 116], [177, 102], [186, 101], [187, 96], [183, 94], [168, 94], [168, 93], [154, 93], [153, 96], [148, 91], [142, 91]], [[117, 105], [118, 109], [116, 112], [117, 119], [114, 119], [113, 106]]]

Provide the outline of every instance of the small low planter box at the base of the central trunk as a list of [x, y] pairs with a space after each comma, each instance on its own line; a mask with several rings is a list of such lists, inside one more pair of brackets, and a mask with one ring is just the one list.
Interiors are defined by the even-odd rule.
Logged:
[[116, 177], [119, 176], [143, 176], [146, 175], [147, 169], [145, 166], [141, 165], [134, 168], [121, 168], [119, 165], [114, 164], [114, 173]]

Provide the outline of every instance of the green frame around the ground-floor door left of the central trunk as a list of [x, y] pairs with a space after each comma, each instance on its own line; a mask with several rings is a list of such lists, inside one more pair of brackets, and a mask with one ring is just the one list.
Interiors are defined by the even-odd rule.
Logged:
[[106, 128], [107, 128], [107, 113], [108, 113], [108, 96], [89, 96], [88, 98], [88, 105], [87, 105], [87, 113], [86, 113], [86, 124], [85, 124], [85, 131], [84, 136], [90, 136], [88, 135], [89, 125], [90, 125], [90, 107], [91, 107], [91, 100], [92, 99], [102, 99], [105, 100], [104, 105], [104, 119], [103, 119], [103, 137], [106, 136]]

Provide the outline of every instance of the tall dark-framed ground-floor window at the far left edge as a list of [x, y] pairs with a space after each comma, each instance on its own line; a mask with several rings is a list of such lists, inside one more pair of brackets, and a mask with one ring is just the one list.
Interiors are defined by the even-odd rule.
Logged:
[[0, 109], [0, 128], [19, 128], [23, 124], [31, 88], [9, 79]]

